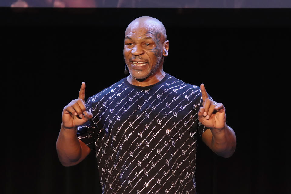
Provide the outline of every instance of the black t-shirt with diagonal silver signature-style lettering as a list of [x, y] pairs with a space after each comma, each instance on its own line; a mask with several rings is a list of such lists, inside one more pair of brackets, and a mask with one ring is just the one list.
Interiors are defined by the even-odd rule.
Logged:
[[90, 97], [78, 138], [95, 149], [103, 193], [196, 193], [200, 88], [166, 74], [139, 87], [126, 78]]

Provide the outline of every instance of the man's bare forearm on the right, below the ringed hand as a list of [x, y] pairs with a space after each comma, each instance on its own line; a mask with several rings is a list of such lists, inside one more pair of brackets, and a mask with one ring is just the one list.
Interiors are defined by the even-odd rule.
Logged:
[[211, 147], [217, 155], [228, 158], [236, 149], [236, 135], [232, 128], [210, 129], [212, 133]]

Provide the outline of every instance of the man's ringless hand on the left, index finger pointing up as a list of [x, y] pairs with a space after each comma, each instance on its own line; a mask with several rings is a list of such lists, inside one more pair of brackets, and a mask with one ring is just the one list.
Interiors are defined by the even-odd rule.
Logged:
[[63, 127], [66, 129], [75, 129], [83, 125], [93, 117], [91, 112], [86, 111], [85, 107], [85, 88], [86, 84], [82, 82], [78, 99], [72, 100], [66, 105], [62, 112]]

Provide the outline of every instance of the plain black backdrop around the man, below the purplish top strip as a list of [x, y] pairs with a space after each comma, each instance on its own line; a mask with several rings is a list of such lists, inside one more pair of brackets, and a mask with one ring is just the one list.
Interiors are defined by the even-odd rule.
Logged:
[[142, 15], [166, 27], [164, 71], [203, 82], [236, 132], [231, 158], [200, 141], [198, 193], [289, 193], [290, 9], [1, 8], [5, 193], [100, 192], [94, 152], [58, 160], [62, 109], [82, 82], [87, 99], [125, 77], [124, 31]]

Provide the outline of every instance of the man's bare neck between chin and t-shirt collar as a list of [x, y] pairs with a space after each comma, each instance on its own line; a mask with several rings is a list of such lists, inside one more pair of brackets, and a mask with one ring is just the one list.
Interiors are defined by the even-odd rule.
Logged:
[[160, 69], [160, 70], [158, 69], [156, 73], [154, 73], [153, 75], [150, 75], [149, 77], [147, 77], [145, 80], [142, 80], [142, 81], [134, 79], [131, 75], [129, 75], [126, 79], [132, 85], [145, 87], [145, 86], [154, 85], [158, 83], [165, 77], [165, 75], [166, 73], [163, 71], [163, 69]]

